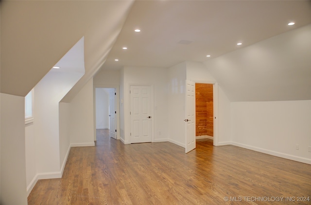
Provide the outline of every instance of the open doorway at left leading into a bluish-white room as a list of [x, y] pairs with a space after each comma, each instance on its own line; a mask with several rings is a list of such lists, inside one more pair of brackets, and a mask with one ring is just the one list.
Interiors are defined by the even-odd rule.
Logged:
[[105, 132], [109, 134], [109, 137], [117, 139], [115, 88], [95, 88], [95, 126], [96, 133]]

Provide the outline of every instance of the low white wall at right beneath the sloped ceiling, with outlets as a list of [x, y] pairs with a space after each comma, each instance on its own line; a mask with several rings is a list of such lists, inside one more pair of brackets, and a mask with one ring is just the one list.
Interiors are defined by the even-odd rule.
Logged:
[[231, 135], [234, 145], [311, 164], [311, 101], [232, 102]]

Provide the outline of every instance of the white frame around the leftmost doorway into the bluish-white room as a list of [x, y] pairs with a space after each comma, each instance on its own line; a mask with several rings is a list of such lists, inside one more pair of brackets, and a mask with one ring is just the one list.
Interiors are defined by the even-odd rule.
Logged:
[[116, 114], [116, 130], [117, 130], [117, 139], [120, 139], [120, 90], [119, 85], [93, 85], [93, 116], [94, 116], [94, 141], [96, 141], [96, 88], [115, 88], [116, 90], [116, 102], [115, 102], [115, 109], [117, 111]]

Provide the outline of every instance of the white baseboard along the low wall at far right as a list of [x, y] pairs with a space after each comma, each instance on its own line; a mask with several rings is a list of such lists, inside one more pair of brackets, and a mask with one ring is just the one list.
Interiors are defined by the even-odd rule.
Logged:
[[248, 150], [253, 150], [259, 153], [264, 153], [264, 154], [270, 154], [273, 156], [278, 156], [278, 157], [282, 157], [285, 159], [290, 159], [290, 160], [294, 160], [297, 162], [302, 162], [302, 163], [306, 163], [306, 164], [311, 164], [311, 159], [305, 158], [305, 157], [300, 157], [300, 156], [295, 156], [295, 155], [291, 155], [291, 154], [285, 154], [285, 153], [279, 153], [279, 152], [275, 152], [272, 150], [266, 150], [266, 149], [262, 149], [259, 147], [254, 147], [254, 146], [250, 146], [250, 145], [246, 145], [246, 144], [241, 144], [241, 143], [237, 143], [237, 142], [231, 142], [232, 145], [237, 146], [237, 147], [242, 147]]

